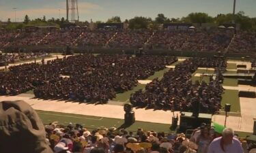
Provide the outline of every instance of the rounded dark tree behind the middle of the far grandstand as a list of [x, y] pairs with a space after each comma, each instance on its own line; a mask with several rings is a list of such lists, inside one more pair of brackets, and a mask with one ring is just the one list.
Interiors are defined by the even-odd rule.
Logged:
[[152, 22], [151, 18], [145, 18], [143, 16], [135, 16], [129, 20], [130, 29], [147, 29], [148, 24]]

